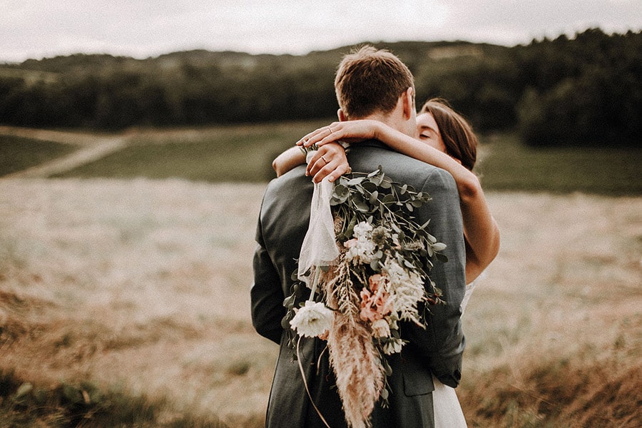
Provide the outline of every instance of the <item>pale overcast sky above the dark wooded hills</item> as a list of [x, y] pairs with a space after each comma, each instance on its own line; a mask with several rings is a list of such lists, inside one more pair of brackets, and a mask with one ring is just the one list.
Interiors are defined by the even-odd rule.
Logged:
[[514, 46], [642, 29], [642, 0], [0, 0], [0, 62], [209, 49], [306, 54], [362, 41]]

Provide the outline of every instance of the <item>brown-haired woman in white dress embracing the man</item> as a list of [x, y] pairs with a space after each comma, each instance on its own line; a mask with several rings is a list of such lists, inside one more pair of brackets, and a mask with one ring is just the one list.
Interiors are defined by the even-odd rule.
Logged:
[[[471, 126], [447, 103], [440, 99], [427, 101], [417, 115], [416, 138], [396, 131], [379, 121], [344, 121], [319, 128], [302, 138], [298, 146], [317, 144], [319, 150], [310, 159], [306, 174], [315, 182], [326, 176], [330, 181], [350, 171], [344, 148], [337, 143], [357, 143], [375, 139], [390, 148], [419, 161], [447, 170], [457, 183], [464, 240], [466, 243], [467, 291], [462, 311], [474, 288], [474, 279], [488, 266], [499, 251], [499, 228], [492, 217], [479, 179], [472, 168], [477, 160], [477, 136]], [[302, 152], [292, 148], [275, 159], [277, 175], [303, 163]], [[434, 379], [434, 417], [436, 428], [466, 427], [462, 407], [454, 389]]]

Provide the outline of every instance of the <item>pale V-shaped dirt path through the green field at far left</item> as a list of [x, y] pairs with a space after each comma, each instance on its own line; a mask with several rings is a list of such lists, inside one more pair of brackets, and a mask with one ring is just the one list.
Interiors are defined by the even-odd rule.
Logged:
[[63, 173], [121, 150], [121, 148], [127, 146], [131, 138], [131, 134], [102, 136], [91, 133], [14, 128], [11, 126], [0, 126], [0, 135], [33, 138], [78, 146], [77, 151], [67, 156], [61, 156], [40, 165], [5, 175], [3, 178], [46, 178]]

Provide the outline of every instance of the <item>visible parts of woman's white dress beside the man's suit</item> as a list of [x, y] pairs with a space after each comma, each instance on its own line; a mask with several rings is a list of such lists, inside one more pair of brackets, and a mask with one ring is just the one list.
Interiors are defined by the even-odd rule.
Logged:
[[[466, 286], [466, 294], [462, 300], [462, 315], [475, 287], [475, 282]], [[457, 393], [454, 388], [439, 382], [439, 379], [432, 377], [434, 391], [432, 392], [432, 405], [434, 408], [434, 428], [466, 428], [466, 419], [462, 411], [462, 404], [459, 404]]]

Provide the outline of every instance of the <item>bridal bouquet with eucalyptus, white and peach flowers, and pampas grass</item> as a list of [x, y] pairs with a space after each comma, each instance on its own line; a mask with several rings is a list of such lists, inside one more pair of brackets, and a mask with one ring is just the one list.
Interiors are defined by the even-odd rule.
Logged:
[[319, 218], [324, 214], [313, 197], [308, 235], [330, 222], [331, 230], [326, 226], [320, 235], [330, 235], [326, 242], [331, 242], [320, 244], [306, 235], [303, 246], [313, 252], [325, 247], [329, 255], [305, 257], [305, 265], [300, 258], [297, 276], [311, 289], [310, 298], [300, 301], [305, 285], [295, 282], [284, 302], [283, 325], [299, 337], [327, 340], [347, 423], [367, 427], [377, 401], [387, 404], [386, 379], [392, 371], [386, 356], [404, 347], [400, 322], [425, 327], [429, 305], [442, 302], [428, 274], [434, 260], [446, 260], [440, 253], [446, 245], [428, 233], [429, 222], [414, 222], [414, 210], [429, 195], [394, 183], [381, 167], [342, 176], [333, 188], [332, 183], [325, 186], [331, 194], [323, 195], [320, 188], [316, 195], [315, 189], [321, 198], [317, 203], [329, 200], [325, 220]]

